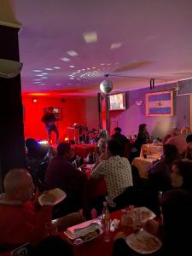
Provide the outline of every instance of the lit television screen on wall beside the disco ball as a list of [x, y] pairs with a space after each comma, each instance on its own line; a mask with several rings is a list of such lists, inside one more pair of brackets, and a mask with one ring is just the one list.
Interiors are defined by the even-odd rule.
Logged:
[[108, 99], [109, 110], [125, 110], [126, 109], [126, 95], [125, 93], [117, 93], [109, 96]]

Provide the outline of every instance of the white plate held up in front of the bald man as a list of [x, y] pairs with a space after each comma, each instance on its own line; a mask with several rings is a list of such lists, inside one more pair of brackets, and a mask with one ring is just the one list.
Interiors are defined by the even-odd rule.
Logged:
[[46, 193], [38, 196], [38, 202], [41, 206], [55, 206], [67, 197], [66, 193], [61, 189], [50, 189]]

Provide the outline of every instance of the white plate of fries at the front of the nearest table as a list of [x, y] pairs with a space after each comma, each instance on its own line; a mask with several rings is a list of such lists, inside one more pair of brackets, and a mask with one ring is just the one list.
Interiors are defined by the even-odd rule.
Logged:
[[162, 246], [161, 241], [145, 230], [139, 230], [126, 237], [126, 243], [137, 253], [154, 253]]

